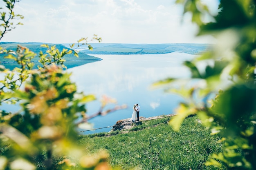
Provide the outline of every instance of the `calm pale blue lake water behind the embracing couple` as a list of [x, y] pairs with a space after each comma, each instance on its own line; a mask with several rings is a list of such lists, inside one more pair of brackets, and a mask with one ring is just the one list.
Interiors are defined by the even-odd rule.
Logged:
[[[121, 119], [130, 118], [132, 106], [136, 103], [141, 107], [140, 116], [173, 113], [182, 98], [166, 94], [163, 89], [150, 89], [150, 85], [167, 77], [188, 77], [189, 71], [182, 62], [194, 57], [184, 53], [94, 56], [103, 60], [68, 69], [68, 72], [72, 72], [71, 79], [76, 82], [78, 90], [94, 94], [97, 98], [107, 95], [115, 98], [120, 105], [128, 105], [126, 110], [91, 119], [94, 128], [112, 126]], [[107, 108], [111, 107], [113, 105]], [[99, 108], [99, 101], [87, 104], [88, 114], [98, 112]], [[111, 129], [103, 128], [80, 134], [109, 132]]]

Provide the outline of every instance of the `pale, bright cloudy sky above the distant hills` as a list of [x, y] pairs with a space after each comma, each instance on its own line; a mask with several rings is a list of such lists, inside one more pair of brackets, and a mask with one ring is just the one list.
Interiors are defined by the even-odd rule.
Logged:
[[[215, 15], [218, 0], [202, 0]], [[0, 6], [2, 7], [2, 1]], [[195, 37], [196, 25], [175, 0], [21, 0], [14, 11], [25, 18], [2, 42], [76, 43], [212, 43], [210, 36]], [[96, 41], [91, 41], [91, 43]]]

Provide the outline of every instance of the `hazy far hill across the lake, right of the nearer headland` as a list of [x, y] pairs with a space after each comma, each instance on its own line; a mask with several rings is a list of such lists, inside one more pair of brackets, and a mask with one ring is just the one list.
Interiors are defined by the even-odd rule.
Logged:
[[[65, 45], [65, 44], [63, 44]], [[200, 54], [205, 51], [211, 44], [115, 44], [115, 43], [98, 43], [91, 44], [93, 50], [81, 50], [85, 54], [166, 54], [172, 52], [181, 52], [187, 54]]]

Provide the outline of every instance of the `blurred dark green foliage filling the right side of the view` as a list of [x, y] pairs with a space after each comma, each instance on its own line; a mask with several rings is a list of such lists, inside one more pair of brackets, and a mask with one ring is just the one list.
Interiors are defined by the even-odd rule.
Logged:
[[[184, 62], [191, 78], [166, 78], [155, 83], [169, 85], [185, 99], [170, 125], [179, 129], [183, 119], [198, 114], [212, 134], [222, 132], [225, 148], [212, 154], [207, 165], [227, 169], [256, 169], [256, 1], [220, 0], [218, 15], [211, 16], [201, 0], [177, 0], [184, 14], [199, 27], [198, 36], [216, 38], [211, 48]], [[204, 16], [214, 22], [205, 23]], [[178, 88], [177, 88], [178, 87]]]

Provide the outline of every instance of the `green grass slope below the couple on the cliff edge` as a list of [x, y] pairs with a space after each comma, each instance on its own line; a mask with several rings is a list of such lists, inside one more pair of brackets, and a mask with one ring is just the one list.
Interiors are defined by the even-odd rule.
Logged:
[[79, 144], [90, 152], [108, 150], [110, 164], [128, 170], [208, 170], [204, 163], [213, 152], [220, 152], [220, 136], [212, 136], [197, 121], [197, 117], [184, 120], [180, 131], [167, 124], [170, 118], [145, 121], [135, 125], [129, 133], [118, 132], [106, 137], [80, 136]]

